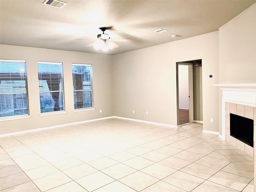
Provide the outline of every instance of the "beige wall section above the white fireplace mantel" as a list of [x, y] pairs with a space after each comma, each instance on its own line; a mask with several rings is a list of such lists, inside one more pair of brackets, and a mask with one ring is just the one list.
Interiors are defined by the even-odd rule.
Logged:
[[219, 29], [220, 84], [256, 83], [256, 4]]

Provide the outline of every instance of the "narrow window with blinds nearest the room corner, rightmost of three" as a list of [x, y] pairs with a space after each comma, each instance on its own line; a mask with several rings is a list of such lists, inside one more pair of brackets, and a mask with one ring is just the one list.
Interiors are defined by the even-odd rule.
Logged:
[[92, 108], [92, 65], [72, 64], [72, 74], [75, 110]]

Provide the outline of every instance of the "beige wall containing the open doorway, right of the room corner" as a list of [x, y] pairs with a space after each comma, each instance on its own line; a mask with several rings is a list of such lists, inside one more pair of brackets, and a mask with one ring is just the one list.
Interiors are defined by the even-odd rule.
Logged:
[[197, 59], [204, 129], [218, 132], [218, 88], [212, 86], [218, 84], [218, 32], [114, 55], [114, 115], [177, 125], [176, 62]]

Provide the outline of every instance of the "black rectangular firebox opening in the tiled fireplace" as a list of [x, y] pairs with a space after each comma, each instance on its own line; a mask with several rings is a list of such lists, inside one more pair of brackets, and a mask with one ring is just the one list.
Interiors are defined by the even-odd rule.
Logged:
[[230, 113], [230, 136], [253, 147], [253, 120]]

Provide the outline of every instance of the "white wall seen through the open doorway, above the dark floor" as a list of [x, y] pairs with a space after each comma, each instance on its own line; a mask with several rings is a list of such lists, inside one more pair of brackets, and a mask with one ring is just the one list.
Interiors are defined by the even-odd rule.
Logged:
[[178, 79], [179, 79], [179, 108], [189, 109], [188, 100], [188, 66], [178, 65]]

